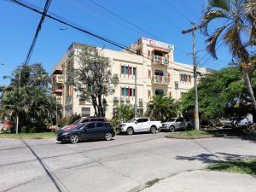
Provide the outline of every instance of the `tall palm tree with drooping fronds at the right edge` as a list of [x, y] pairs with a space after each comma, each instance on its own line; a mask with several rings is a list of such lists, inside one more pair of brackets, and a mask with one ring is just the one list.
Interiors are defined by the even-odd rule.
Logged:
[[[208, 26], [213, 20], [218, 21], [221, 26], [209, 35]], [[207, 8], [203, 11], [201, 26], [208, 37], [207, 50], [215, 59], [218, 59], [216, 45], [221, 38], [231, 54], [242, 62], [243, 78], [253, 107], [256, 109], [256, 100], [250, 81], [254, 65], [250, 62], [248, 51], [255, 45], [256, 39], [255, 0], [208, 0]]]

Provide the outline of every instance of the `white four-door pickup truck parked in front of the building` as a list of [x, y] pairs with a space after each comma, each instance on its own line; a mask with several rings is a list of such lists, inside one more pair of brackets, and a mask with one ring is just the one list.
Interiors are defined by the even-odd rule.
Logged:
[[133, 118], [126, 123], [119, 125], [120, 132], [126, 132], [132, 135], [134, 132], [151, 132], [156, 133], [162, 126], [160, 121], [150, 121], [149, 118]]

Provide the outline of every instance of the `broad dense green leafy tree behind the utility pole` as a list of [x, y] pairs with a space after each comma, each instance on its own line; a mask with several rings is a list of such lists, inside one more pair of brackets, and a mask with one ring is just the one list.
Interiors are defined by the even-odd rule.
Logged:
[[[239, 67], [227, 67], [201, 78], [198, 84], [199, 108], [205, 119], [230, 117], [234, 113], [243, 115], [253, 109], [248, 100], [248, 93], [243, 84], [242, 73]], [[253, 89], [256, 78], [253, 76]], [[189, 90], [181, 102], [183, 113], [193, 111], [194, 91]]]

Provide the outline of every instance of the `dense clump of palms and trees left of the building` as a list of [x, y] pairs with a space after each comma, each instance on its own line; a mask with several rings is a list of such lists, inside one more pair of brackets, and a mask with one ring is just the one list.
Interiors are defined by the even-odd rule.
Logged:
[[11, 119], [19, 120], [20, 127], [37, 124], [40, 128], [46, 121], [52, 122], [58, 104], [49, 94], [49, 75], [41, 64], [22, 65], [9, 78], [9, 86], [0, 89], [3, 113], [9, 112]]

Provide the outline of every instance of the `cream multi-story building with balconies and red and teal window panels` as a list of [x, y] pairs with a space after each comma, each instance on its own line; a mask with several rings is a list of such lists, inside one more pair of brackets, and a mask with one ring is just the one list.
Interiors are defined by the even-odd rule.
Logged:
[[[67, 84], [67, 70], [79, 67], [75, 59], [83, 44], [73, 43], [67, 49], [61, 61], [52, 72], [53, 94], [63, 106], [63, 115], [79, 113], [82, 116], [94, 115], [90, 102], [80, 100], [73, 85]], [[179, 100], [193, 87], [193, 66], [174, 61], [174, 46], [149, 38], [140, 38], [130, 49], [103, 49], [102, 54], [109, 58], [110, 71], [119, 78], [113, 95], [106, 97], [108, 110], [106, 116], [111, 118], [115, 108], [120, 104], [135, 106], [137, 112], [144, 113], [147, 103], [155, 95], [164, 94]], [[207, 68], [198, 68], [201, 75], [210, 73]], [[137, 97], [137, 98], [136, 98]]]

